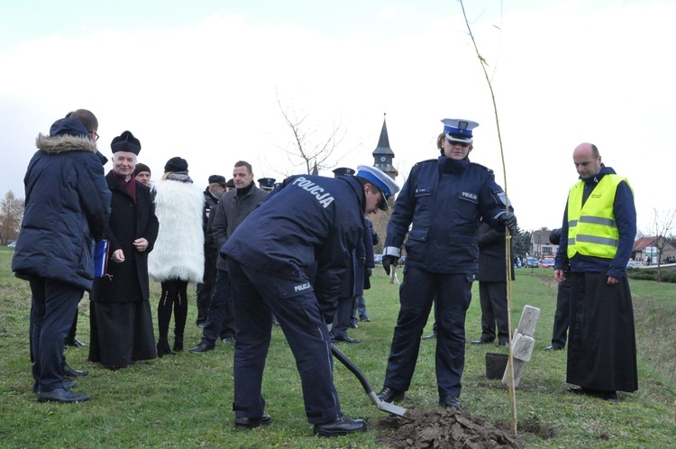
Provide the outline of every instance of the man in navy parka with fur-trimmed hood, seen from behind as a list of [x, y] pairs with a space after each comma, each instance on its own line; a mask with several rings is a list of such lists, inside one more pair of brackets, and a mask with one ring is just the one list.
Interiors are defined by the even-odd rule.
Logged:
[[38, 134], [23, 179], [25, 209], [12, 270], [31, 284], [33, 390], [38, 401], [89, 399], [64, 386], [64, 340], [80, 298], [92, 289], [95, 240], [108, 222], [110, 192], [96, 150], [96, 116], [78, 109]]

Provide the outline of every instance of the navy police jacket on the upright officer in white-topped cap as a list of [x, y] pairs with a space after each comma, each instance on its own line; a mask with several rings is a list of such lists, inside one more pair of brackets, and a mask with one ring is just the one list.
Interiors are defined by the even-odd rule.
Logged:
[[[505, 193], [493, 171], [445, 156], [417, 163], [388, 222], [386, 247], [406, 243], [407, 266], [438, 273], [476, 274], [480, 219], [503, 229]], [[510, 207], [510, 211], [511, 211]]]

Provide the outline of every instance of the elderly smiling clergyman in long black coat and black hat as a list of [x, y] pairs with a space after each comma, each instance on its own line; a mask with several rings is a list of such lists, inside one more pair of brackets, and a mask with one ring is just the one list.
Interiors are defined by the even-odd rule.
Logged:
[[116, 370], [157, 357], [153, 334], [148, 253], [158, 234], [151, 190], [133, 176], [141, 142], [125, 131], [111, 143], [113, 170], [108, 272], [94, 281], [89, 361]]

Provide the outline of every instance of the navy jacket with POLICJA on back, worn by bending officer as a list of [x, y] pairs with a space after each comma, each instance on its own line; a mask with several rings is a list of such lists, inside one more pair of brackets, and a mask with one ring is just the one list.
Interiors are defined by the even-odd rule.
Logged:
[[353, 257], [363, 254], [364, 207], [357, 179], [292, 176], [246, 217], [221, 253], [285, 279], [316, 262], [315, 296], [320, 304], [333, 301], [352, 290]]

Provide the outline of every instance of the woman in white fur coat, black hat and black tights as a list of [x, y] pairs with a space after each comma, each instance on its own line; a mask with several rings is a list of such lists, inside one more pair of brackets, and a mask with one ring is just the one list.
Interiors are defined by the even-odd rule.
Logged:
[[187, 319], [187, 284], [202, 282], [205, 267], [202, 230], [202, 189], [187, 176], [187, 161], [171, 158], [155, 188], [155, 215], [160, 232], [148, 257], [148, 271], [162, 284], [158, 305], [157, 353], [173, 354], [169, 347], [169, 321], [174, 310], [174, 351], [183, 351]]

